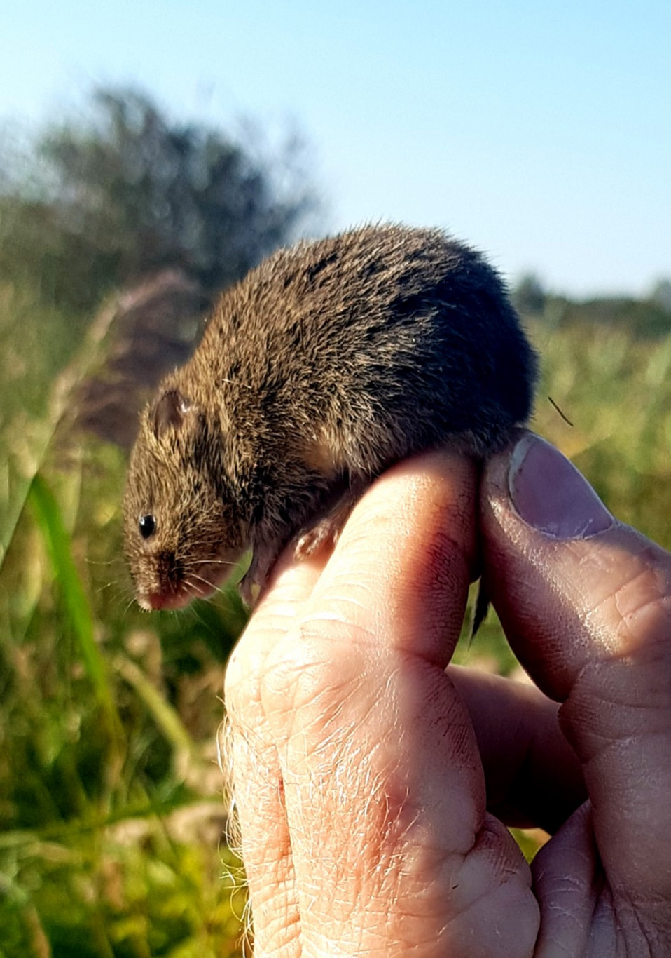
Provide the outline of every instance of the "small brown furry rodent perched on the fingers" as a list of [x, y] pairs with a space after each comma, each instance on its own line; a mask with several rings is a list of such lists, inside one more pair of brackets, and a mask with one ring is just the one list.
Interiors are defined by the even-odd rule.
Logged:
[[280, 250], [223, 293], [143, 413], [124, 497], [137, 601], [244, 591], [337, 534], [392, 463], [477, 457], [529, 415], [535, 355], [498, 274], [439, 230], [367, 226]]

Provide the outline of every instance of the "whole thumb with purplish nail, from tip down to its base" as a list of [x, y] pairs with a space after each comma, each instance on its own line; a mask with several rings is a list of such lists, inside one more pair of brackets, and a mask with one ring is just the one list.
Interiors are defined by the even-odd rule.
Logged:
[[506, 635], [562, 702], [610, 888], [671, 925], [671, 557], [531, 433], [486, 468], [481, 525]]

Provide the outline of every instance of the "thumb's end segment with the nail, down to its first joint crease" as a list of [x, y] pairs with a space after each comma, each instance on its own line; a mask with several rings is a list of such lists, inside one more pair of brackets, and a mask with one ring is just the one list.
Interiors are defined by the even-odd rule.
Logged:
[[594, 660], [641, 652], [671, 626], [671, 556], [608, 512], [533, 433], [493, 457], [481, 492], [484, 579], [527, 672], [563, 701]]

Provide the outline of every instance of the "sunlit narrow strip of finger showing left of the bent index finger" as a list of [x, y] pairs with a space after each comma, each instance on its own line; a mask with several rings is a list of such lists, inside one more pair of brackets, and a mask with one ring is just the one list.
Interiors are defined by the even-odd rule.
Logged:
[[226, 719], [222, 767], [235, 796], [239, 835], [255, 924], [255, 950], [301, 954], [298, 903], [291, 843], [284, 810], [280, 761], [260, 701], [264, 662], [292, 626], [318, 580], [325, 555], [278, 562], [269, 588], [229, 660], [225, 681]]

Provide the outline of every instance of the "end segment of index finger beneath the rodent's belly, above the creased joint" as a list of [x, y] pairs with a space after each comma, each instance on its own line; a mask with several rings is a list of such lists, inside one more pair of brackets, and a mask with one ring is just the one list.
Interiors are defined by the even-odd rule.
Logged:
[[[303, 625], [317, 624], [328, 609], [347, 628], [384, 629], [398, 651], [444, 668], [459, 639], [478, 558], [476, 499], [475, 462], [446, 450], [389, 469], [347, 521]], [[418, 609], [426, 619], [421, 635], [414, 627]]]

